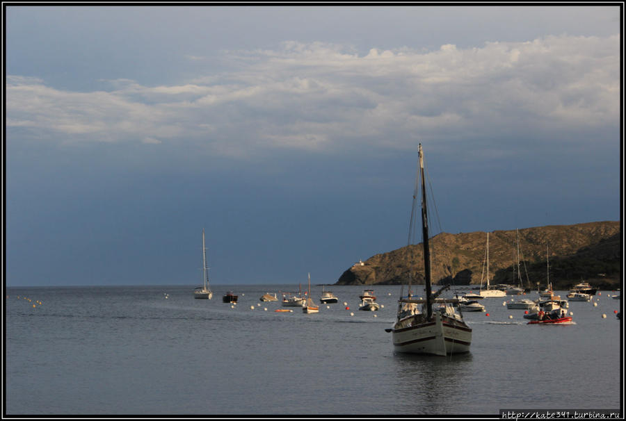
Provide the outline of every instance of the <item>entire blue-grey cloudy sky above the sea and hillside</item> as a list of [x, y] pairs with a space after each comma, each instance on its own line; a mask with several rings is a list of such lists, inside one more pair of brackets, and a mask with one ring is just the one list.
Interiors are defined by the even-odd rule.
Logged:
[[420, 143], [442, 231], [620, 220], [619, 5], [5, 3], [5, 284], [335, 283]]

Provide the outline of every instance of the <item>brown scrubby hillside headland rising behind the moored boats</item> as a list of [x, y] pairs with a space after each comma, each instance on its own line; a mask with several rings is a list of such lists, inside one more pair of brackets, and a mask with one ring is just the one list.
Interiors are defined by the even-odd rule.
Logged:
[[[538, 226], [519, 229], [520, 267], [525, 286], [567, 289], [581, 279], [602, 288], [619, 288], [620, 222]], [[479, 284], [485, 274], [487, 233], [440, 233], [431, 238], [433, 283]], [[517, 283], [515, 230], [489, 233], [490, 283]], [[424, 283], [422, 244], [376, 254], [346, 270], [336, 285]], [[483, 281], [484, 282], [484, 281]]]

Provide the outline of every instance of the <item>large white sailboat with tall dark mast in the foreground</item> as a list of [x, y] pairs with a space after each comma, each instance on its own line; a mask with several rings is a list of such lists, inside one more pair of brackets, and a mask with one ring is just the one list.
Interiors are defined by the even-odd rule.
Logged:
[[[431, 290], [431, 253], [428, 246], [428, 211], [426, 208], [426, 182], [424, 181], [424, 153], [419, 145], [419, 171], [413, 194], [413, 210], [409, 227], [409, 245], [411, 243], [413, 218], [415, 215], [419, 180], [422, 185], [422, 235], [424, 237], [424, 283], [425, 299], [403, 297], [400, 292], [398, 315], [394, 326], [385, 329], [392, 333], [392, 342], [396, 352], [412, 354], [435, 354], [445, 356], [470, 351], [472, 329], [465, 324], [462, 313], [457, 313], [452, 304], [458, 299], [438, 298], [449, 286], [437, 292]], [[409, 286], [410, 291], [410, 286]], [[410, 304], [407, 306], [407, 304]], [[415, 304], [422, 304], [419, 311]], [[438, 306], [435, 307], [435, 304]]]

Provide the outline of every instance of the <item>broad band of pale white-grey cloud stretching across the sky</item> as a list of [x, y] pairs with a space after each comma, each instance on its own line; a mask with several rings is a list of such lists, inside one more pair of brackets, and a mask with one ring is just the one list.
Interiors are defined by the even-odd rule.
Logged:
[[71, 92], [9, 76], [6, 124], [42, 140], [194, 142], [230, 156], [619, 124], [618, 35], [364, 56], [338, 44], [284, 42], [224, 54], [232, 71], [180, 85], [117, 79], [108, 91]]

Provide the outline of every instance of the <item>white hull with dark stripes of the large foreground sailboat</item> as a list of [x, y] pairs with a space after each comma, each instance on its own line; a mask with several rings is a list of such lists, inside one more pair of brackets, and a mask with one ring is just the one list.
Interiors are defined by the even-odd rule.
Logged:
[[433, 317], [434, 322], [392, 330], [394, 350], [441, 356], [470, 351], [472, 329], [467, 324], [447, 316], [442, 320], [442, 315], [438, 312]]

